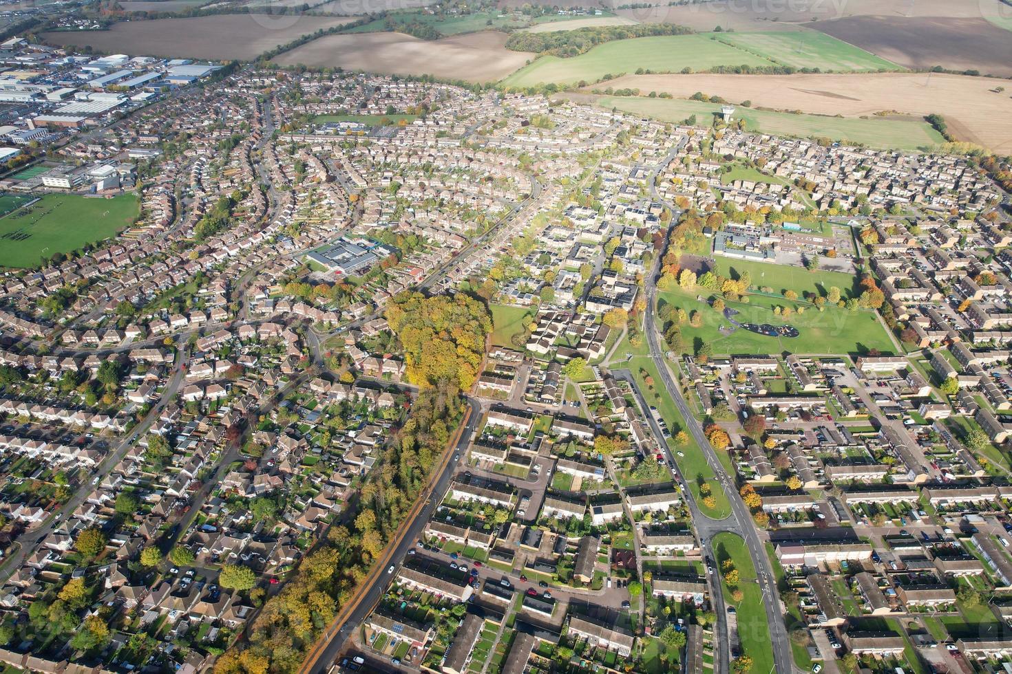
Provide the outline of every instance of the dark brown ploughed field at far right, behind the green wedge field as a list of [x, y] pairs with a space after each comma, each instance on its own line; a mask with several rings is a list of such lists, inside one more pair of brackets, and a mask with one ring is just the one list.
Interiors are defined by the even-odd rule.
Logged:
[[941, 66], [1012, 76], [1008, 30], [980, 14], [976, 18], [855, 16], [817, 21], [811, 27], [907, 68]]

